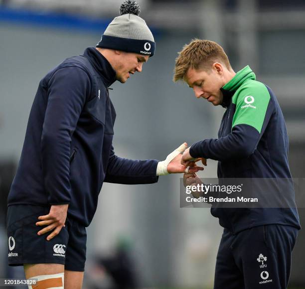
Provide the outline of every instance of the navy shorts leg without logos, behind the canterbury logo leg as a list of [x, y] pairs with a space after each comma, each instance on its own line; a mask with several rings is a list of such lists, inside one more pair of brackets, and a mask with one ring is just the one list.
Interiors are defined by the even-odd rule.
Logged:
[[69, 218], [69, 242], [66, 250], [65, 270], [83, 272], [86, 262], [86, 228]]

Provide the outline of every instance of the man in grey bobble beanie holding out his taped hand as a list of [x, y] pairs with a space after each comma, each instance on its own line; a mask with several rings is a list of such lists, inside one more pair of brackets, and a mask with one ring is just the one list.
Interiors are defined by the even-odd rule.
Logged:
[[[39, 83], [16, 176], [8, 195], [8, 263], [24, 266], [29, 288], [81, 288], [86, 227], [103, 182], [147, 184], [184, 172], [180, 145], [164, 161], [121, 158], [109, 87], [125, 83], [154, 53], [134, 0], [107, 27], [97, 48], [64, 60]], [[200, 167], [194, 163], [189, 171]]]

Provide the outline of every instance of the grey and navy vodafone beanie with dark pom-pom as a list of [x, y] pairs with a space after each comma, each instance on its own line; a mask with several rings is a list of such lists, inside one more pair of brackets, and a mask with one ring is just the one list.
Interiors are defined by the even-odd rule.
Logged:
[[120, 14], [108, 25], [96, 47], [151, 57], [154, 54], [155, 42], [145, 20], [139, 17], [139, 4], [135, 0], [124, 1], [120, 7]]

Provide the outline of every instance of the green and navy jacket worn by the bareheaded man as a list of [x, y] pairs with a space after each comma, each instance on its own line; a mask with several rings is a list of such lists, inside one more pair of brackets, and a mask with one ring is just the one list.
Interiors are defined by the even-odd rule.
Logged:
[[[218, 160], [218, 178], [292, 178], [285, 120], [273, 91], [255, 80], [249, 66], [240, 70], [221, 91], [223, 115], [218, 139], [190, 147], [193, 157]], [[295, 192], [285, 192], [294, 201]], [[237, 233], [255, 226], [283, 224], [300, 228], [296, 208], [215, 208], [221, 226]]]

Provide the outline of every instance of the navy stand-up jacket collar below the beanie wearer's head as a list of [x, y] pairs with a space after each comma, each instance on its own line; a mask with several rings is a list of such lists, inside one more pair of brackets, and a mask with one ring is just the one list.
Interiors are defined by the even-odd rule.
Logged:
[[105, 84], [108, 87], [116, 81], [116, 71], [112, 68], [109, 61], [95, 47], [86, 48], [84, 56], [89, 59], [93, 67], [103, 77]]

